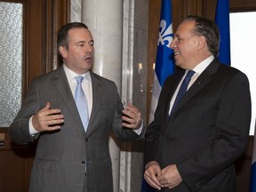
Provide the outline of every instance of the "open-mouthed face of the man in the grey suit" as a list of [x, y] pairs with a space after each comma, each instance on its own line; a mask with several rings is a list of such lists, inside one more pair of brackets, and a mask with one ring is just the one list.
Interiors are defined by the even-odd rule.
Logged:
[[92, 68], [94, 41], [86, 28], [68, 30], [68, 48], [60, 46], [59, 51], [64, 63], [77, 74], [84, 74]]

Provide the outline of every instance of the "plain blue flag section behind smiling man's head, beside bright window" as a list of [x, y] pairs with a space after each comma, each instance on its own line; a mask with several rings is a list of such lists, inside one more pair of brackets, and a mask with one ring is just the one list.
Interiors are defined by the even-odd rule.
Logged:
[[230, 66], [230, 29], [229, 29], [229, 0], [218, 0], [215, 12], [215, 22], [220, 28], [221, 63]]

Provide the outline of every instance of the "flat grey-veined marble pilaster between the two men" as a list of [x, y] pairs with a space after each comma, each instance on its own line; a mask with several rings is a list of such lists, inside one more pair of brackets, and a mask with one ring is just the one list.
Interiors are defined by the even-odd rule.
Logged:
[[[123, 0], [122, 98], [140, 109], [146, 123], [148, 0]], [[145, 124], [147, 126], [147, 124]], [[120, 152], [120, 192], [141, 191], [143, 140], [124, 142]]]

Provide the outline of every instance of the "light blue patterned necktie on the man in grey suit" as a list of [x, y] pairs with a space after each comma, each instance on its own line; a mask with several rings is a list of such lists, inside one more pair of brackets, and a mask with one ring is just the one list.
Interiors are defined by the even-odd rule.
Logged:
[[75, 101], [76, 101], [76, 107], [78, 109], [80, 118], [82, 120], [82, 123], [84, 125], [84, 130], [86, 132], [87, 126], [89, 123], [89, 112], [88, 112], [88, 105], [87, 100], [84, 94], [84, 91], [82, 89], [82, 82], [84, 77], [83, 76], [76, 76], [75, 77], [77, 85], [76, 85], [76, 91], [75, 91]]

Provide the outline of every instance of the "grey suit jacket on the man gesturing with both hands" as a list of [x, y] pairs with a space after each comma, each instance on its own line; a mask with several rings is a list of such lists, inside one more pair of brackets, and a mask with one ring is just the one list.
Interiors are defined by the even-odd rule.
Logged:
[[10, 127], [12, 140], [33, 142], [28, 120], [47, 101], [60, 108], [64, 124], [60, 131], [41, 132], [30, 179], [30, 192], [112, 192], [112, 168], [108, 150], [109, 132], [120, 140], [136, 140], [137, 135], [122, 127], [123, 105], [116, 84], [96, 74], [92, 76], [92, 115], [84, 132], [76, 103], [62, 67], [37, 77], [29, 86], [22, 107]]

